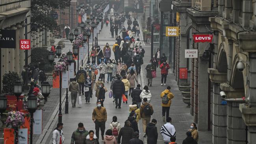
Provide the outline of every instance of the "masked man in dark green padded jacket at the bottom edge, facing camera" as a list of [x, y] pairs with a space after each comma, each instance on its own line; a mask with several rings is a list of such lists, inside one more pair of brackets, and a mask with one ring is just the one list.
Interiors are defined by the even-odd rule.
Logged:
[[78, 128], [72, 133], [70, 144], [85, 144], [88, 131], [83, 127], [83, 123], [78, 124]]

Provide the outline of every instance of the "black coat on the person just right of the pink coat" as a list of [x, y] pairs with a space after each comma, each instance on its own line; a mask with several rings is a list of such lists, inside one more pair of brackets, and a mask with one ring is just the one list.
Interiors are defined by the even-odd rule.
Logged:
[[120, 129], [118, 134], [118, 140], [117, 143], [121, 143], [121, 137], [122, 137], [122, 144], [129, 144], [130, 139], [132, 139], [132, 136], [134, 135], [134, 130], [132, 127], [124, 126]]

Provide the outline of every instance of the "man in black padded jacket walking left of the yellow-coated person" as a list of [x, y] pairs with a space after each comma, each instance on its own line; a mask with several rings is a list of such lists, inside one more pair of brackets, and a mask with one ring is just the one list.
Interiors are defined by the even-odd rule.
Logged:
[[121, 109], [121, 101], [122, 101], [122, 94], [125, 92], [124, 83], [120, 80], [121, 77], [118, 76], [117, 80], [113, 84], [113, 95], [115, 95], [115, 108]]

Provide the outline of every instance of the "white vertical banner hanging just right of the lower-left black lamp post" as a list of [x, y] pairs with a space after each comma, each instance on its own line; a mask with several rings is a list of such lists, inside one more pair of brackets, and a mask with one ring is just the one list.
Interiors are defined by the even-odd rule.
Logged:
[[33, 135], [41, 135], [42, 134], [42, 110], [36, 110], [34, 113], [34, 125], [33, 125]]

